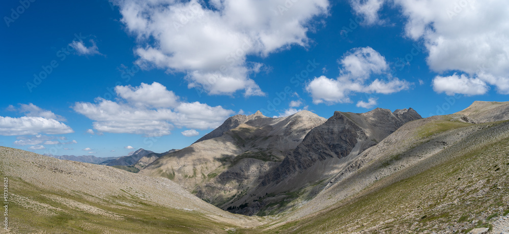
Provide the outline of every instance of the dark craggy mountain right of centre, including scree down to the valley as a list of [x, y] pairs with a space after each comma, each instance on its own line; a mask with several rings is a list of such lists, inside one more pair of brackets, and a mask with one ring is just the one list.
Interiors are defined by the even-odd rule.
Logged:
[[290, 208], [287, 204], [292, 199], [300, 196], [311, 199], [362, 151], [406, 122], [420, 118], [411, 108], [392, 113], [380, 108], [362, 114], [336, 111], [324, 124], [309, 131], [302, 143], [248, 192], [251, 197], [232, 203], [236, 207], [247, 204], [235, 212], [277, 213]]

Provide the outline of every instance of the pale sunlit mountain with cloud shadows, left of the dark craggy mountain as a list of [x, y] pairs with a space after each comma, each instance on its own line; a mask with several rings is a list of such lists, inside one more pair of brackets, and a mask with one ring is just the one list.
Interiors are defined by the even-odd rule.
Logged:
[[266, 117], [261, 112], [233, 116], [212, 134], [160, 157], [139, 173], [167, 177], [224, 207], [246, 196], [246, 191], [280, 164], [307, 132], [324, 122], [309, 111], [283, 118]]

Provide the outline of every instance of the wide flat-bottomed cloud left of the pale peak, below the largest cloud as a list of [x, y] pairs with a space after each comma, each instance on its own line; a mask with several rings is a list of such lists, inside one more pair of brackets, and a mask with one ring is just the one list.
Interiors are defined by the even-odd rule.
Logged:
[[[168, 135], [174, 126], [197, 129], [214, 128], [235, 113], [221, 106], [211, 107], [199, 102], [177, 101], [178, 96], [157, 82], [151, 85], [142, 83], [138, 87], [117, 86], [115, 90], [121, 97], [117, 102], [98, 97], [94, 104], [78, 102], [72, 108], [94, 120], [94, 129], [98, 131], [135, 133], [149, 137]], [[148, 93], [147, 90], [159, 94], [152, 96], [154, 99], [161, 98], [174, 102], [152, 101], [146, 96], [140, 95]]]

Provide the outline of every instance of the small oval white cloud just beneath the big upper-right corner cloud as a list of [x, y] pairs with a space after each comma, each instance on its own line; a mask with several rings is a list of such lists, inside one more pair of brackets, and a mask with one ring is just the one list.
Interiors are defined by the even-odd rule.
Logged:
[[456, 73], [452, 76], [436, 76], [433, 79], [433, 90], [437, 93], [445, 92], [447, 95], [465, 94], [479, 95], [485, 94], [489, 86], [478, 78], [469, 78], [466, 75], [458, 76]]

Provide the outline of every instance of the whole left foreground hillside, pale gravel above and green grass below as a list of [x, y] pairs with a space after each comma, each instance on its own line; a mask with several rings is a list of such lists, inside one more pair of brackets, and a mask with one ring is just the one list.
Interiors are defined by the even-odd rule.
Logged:
[[14, 233], [218, 233], [261, 220], [222, 211], [165, 178], [7, 147], [0, 174]]

